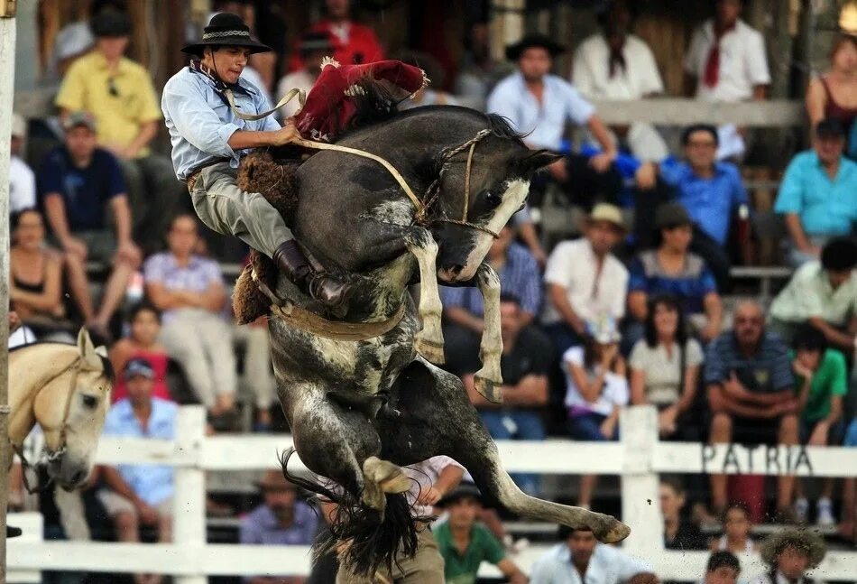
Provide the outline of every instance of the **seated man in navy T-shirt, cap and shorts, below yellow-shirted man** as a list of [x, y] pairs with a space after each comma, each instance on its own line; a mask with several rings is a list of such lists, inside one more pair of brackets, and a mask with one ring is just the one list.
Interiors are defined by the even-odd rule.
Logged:
[[[78, 112], [66, 118], [63, 128], [65, 144], [48, 153], [41, 166], [41, 203], [54, 240], [65, 252], [71, 297], [87, 325], [109, 337], [109, 321], [142, 257], [131, 238], [131, 211], [122, 172], [113, 154], [96, 146], [94, 118]], [[108, 203], [115, 234], [104, 213]], [[113, 264], [98, 311], [89, 292], [88, 260]]]

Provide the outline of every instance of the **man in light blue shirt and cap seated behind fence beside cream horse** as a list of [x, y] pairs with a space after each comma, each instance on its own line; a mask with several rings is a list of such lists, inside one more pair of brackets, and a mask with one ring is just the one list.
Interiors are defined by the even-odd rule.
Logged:
[[[175, 403], [152, 396], [154, 370], [145, 359], [132, 359], [124, 368], [128, 397], [115, 403], [104, 426], [105, 436], [175, 440]], [[172, 467], [119, 465], [103, 467], [106, 484], [98, 498], [116, 527], [120, 542], [139, 542], [140, 526], [158, 528], [158, 541], [172, 540]], [[160, 575], [135, 574], [135, 584], [157, 584]]]

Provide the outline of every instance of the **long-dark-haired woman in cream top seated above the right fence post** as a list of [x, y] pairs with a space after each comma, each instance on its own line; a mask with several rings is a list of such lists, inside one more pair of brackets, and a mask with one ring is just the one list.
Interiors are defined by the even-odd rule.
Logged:
[[668, 295], [650, 299], [645, 337], [631, 350], [631, 403], [658, 408], [661, 437], [676, 436], [687, 425], [682, 418], [695, 403], [702, 363], [702, 348], [687, 337], [676, 299]]

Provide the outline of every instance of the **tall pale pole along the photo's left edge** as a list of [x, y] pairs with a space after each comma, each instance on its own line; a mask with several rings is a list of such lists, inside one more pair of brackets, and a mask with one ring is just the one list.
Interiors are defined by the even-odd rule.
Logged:
[[0, 0], [0, 584], [6, 581], [9, 501], [9, 155], [14, 98], [14, 2]]

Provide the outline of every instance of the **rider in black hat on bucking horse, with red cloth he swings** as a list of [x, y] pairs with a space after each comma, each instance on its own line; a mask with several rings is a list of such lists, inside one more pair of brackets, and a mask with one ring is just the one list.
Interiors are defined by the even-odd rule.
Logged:
[[238, 162], [253, 148], [289, 144], [300, 134], [333, 138], [355, 113], [348, 89], [365, 75], [413, 93], [423, 86], [422, 71], [398, 61], [342, 67], [326, 62], [305, 107], [281, 127], [272, 116], [242, 117], [270, 108], [263, 92], [240, 76], [251, 54], [271, 48], [255, 41], [239, 16], [215, 14], [202, 41], [182, 51], [193, 59], [167, 81], [161, 108], [170, 130], [176, 176], [187, 182], [199, 218], [218, 233], [239, 237], [272, 258], [311, 297], [329, 307], [342, 304], [349, 284], [315, 272], [271, 204], [259, 193], [238, 188]]

